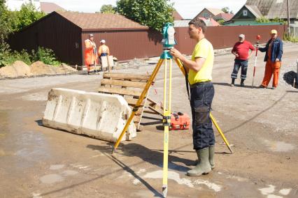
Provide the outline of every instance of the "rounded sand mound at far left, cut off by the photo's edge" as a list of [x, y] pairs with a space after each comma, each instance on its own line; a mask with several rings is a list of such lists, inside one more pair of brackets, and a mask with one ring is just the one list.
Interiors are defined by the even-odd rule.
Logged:
[[3, 77], [27, 77], [30, 76], [30, 68], [23, 61], [15, 61], [11, 66], [0, 68], [0, 75]]

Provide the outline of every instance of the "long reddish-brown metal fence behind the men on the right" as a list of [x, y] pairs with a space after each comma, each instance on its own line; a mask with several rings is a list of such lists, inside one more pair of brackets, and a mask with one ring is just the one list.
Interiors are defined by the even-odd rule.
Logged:
[[[176, 48], [183, 54], [192, 54], [195, 42], [188, 36], [187, 27], [178, 27], [176, 29]], [[283, 38], [286, 26], [284, 25], [264, 25], [264, 26], [209, 26], [206, 32], [206, 38], [212, 43], [214, 49], [233, 47], [238, 41], [239, 34], [246, 35], [246, 40], [250, 43], [256, 43], [256, 36], [260, 35], [260, 43], [266, 43], [271, 29], [278, 31], [278, 36]]]

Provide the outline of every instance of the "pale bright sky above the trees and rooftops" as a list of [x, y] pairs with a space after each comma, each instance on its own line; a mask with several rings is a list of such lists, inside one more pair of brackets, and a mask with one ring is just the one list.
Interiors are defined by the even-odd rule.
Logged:
[[[57, 3], [66, 10], [94, 13], [99, 11], [104, 4], [116, 5], [116, 0], [41, 0]], [[195, 17], [203, 8], [229, 7], [236, 13], [246, 0], [171, 0], [174, 8], [185, 18]]]

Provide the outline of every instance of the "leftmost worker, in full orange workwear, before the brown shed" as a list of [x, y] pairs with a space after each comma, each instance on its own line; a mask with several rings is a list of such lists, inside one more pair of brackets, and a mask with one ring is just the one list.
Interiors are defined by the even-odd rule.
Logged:
[[97, 45], [94, 43], [94, 36], [92, 33], [89, 39], [85, 40], [85, 65], [87, 66], [88, 74], [90, 68], [97, 64]]

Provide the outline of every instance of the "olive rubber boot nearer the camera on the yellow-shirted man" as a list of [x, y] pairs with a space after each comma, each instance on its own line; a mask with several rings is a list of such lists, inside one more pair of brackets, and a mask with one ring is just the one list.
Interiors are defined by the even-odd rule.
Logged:
[[201, 176], [202, 174], [208, 174], [211, 172], [211, 166], [209, 164], [209, 148], [203, 148], [197, 150], [199, 164], [193, 169], [187, 172], [187, 176]]

